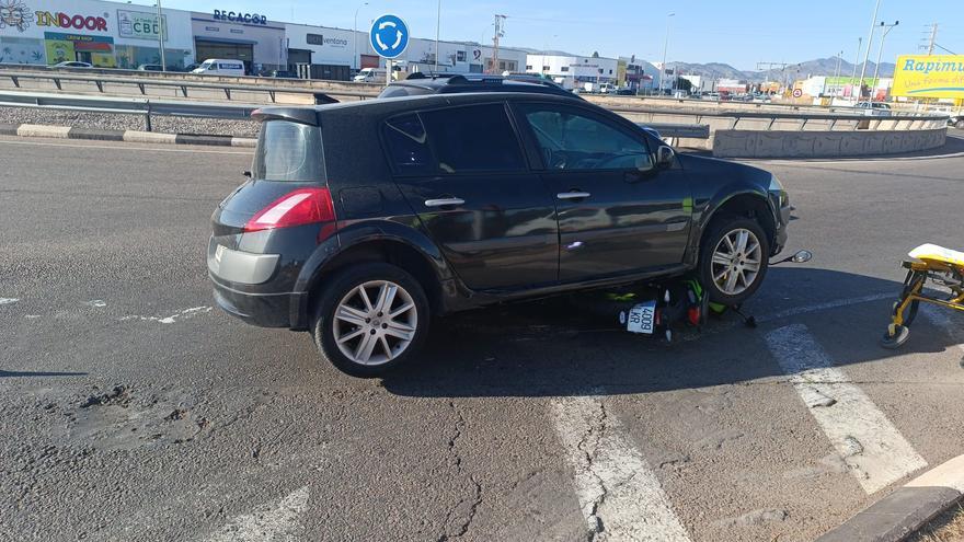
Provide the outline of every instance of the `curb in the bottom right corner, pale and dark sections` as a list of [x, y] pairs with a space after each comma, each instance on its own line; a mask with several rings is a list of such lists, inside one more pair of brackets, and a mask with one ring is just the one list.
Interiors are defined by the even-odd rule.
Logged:
[[964, 497], [964, 455], [959, 455], [857, 514], [817, 542], [900, 542]]

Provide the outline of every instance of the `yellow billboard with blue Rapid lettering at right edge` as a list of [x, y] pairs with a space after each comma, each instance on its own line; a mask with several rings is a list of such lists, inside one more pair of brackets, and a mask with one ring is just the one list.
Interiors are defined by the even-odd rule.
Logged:
[[907, 97], [964, 99], [964, 55], [897, 57], [891, 94]]

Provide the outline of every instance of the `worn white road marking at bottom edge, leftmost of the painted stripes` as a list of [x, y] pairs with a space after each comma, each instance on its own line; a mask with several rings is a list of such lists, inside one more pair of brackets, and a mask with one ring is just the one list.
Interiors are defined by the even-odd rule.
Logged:
[[262, 542], [300, 540], [298, 519], [308, 508], [308, 486], [291, 492], [274, 506], [262, 507], [252, 514], [238, 516], [209, 542]]

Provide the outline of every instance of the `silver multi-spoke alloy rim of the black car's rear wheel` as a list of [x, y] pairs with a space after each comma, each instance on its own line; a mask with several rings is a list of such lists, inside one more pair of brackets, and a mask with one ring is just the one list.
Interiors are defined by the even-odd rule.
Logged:
[[404, 288], [370, 280], [353, 288], [335, 308], [332, 331], [338, 349], [365, 366], [387, 364], [415, 338], [418, 311]]

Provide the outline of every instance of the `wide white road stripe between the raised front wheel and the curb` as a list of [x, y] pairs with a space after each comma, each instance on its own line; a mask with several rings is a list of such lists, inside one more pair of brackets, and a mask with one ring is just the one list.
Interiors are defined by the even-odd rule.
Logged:
[[868, 494], [927, 466], [923, 460], [803, 324], [766, 336], [770, 351]]

